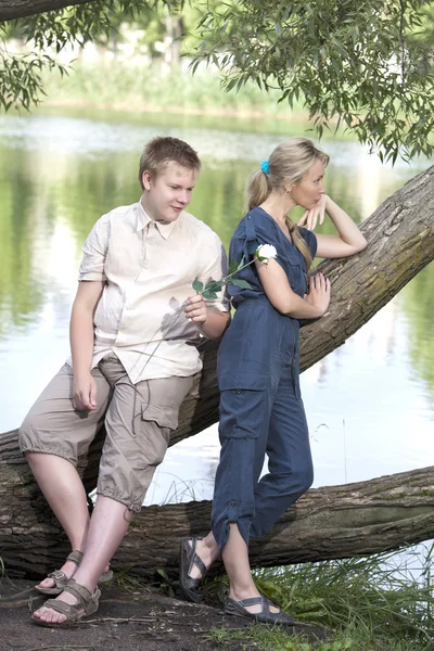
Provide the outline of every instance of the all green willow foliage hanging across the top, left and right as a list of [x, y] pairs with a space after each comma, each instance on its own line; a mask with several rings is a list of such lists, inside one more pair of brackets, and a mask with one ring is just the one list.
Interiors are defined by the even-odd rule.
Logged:
[[[206, 2], [206, 0], [205, 0]], [[302, 101], [318, 137], [349, 129], [381, 159], [432, 155], [434, 142], [433, 2], [426, 0], [95, 0], [0, 23], [0, 103], [28, 110], [39, 101], [42, 71], [66, 67], [55, 53], [88, 40], [107, 42], [123, 22], [159, 39], [166, 17], [181, 24], [192, 69], [216, 65], [224, 87], [247, 81], [281, 101]], [[11, 54], [11, 29], [34, 44]], [[152, 44], [151, 44], [152, 47]], [[191, 46], [193, 49], [193, 46]]]

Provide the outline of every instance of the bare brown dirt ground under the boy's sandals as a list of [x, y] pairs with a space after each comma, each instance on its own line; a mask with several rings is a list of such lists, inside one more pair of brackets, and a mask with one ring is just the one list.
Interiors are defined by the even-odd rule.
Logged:
[[[213, 627], [244, 628], [248, 620], [224, 615], [210, 605], [165, 597], [152, 589], [124, 590], [104, 587], [100, 609], [67, 628], [43, 628], [30, 620], [30, 611], [44, 598], [33, 589], [35, 582], [0, 579], [0, 651], [222, 651], [227, 643], [205, 639]], [[309, 638], [324, 631], [291, 627]], [[230, 651], [253, 651], [256, 644], [230, 643]]]

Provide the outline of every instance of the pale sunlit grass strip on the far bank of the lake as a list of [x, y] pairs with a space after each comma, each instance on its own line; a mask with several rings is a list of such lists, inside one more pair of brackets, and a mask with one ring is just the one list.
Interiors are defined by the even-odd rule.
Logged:
[[[280, 92], [261, 91], [247, 84], [240, 92], [225, 92], [216, 72], [209, 68], [192, 75], [188, 71], [167, 72], [158, 64], [126, 65], [75, 62], [69, 75], [44, 76], [46, 102], [123, 107], [131, 111], [170, 110], [177, 113], [266, 114], [290, 118], [289, 105], [278, 104]], [[295, 106], [302, 112], [302, 105]], [[306, 112], [303, 111], [305, 114]]]

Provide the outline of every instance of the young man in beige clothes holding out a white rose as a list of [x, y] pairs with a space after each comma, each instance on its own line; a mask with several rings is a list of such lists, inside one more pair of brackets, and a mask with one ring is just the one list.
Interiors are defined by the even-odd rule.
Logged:
[[[101, 217], [84, 245], [72, 358], [21, 427], [22, 451], [73, 549], [61, 571], [37, 586], [59, 595], [33, 615], [43, 626], [98, 609], [97, 584], [107, 578], [201, 369], [191, 343], [201, 334], [219, 337], [229, 322], [227, 304], [205, 304], [192, 289], [196, 278], [219, 280], [227, 271], [218, 237], [186, 212], [200, 168], [197, 154], [176, 138], [144, 148], [140, 202]], [[89, 520], [76, 463], [103, 422]]]

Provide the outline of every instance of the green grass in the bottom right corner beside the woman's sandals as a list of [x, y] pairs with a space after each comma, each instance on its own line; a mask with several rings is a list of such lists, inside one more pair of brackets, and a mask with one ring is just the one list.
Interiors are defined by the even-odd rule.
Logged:
[[[244, 640], [258, 651], [433, 651], [434, 546], [368, 558], [255, 571], [258, 589], [306, 624], [332, 631], [309, 642], [278, 627], [224, 628], [207, 639]], [[221, 579], [220, 579], [221, 582]]]

